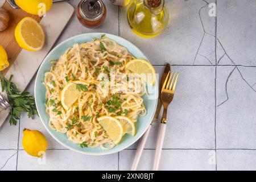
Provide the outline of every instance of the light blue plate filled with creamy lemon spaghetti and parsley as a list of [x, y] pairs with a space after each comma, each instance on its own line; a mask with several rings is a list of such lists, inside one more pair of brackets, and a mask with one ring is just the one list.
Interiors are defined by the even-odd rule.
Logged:
[[[35, 82], [36, 107], [49, 134], [89, 155], [113, 154], [136, 142], [154, 116], [158, 84], [126, 69], [134, 59], [148, 60], [132, 43], [111, 34], [81, 34], [53, 48]], [[108, 126], [119, 128], [102, 125], [104, 117], [113, 118]], [[125, 133], [116, 118], [129, 118], [134, 131]]]

